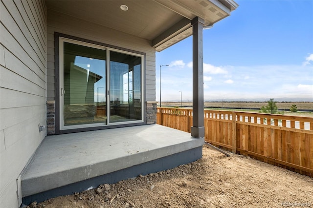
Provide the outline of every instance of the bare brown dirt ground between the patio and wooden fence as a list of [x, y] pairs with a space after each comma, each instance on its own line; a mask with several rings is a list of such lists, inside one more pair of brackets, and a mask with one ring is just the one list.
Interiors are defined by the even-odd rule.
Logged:
[[203, 158], [191, 164], [49, 199], [32, 207], [313, 207], [313, 178], [230, 154], [226, 157], [203, 146]]

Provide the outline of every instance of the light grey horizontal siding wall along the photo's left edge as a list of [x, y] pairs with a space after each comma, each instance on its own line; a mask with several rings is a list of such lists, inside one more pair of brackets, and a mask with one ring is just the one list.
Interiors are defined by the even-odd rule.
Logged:
[[0, 207], [19, 207], [16, 179], [46, 120], [44, 1], [0, 1]]

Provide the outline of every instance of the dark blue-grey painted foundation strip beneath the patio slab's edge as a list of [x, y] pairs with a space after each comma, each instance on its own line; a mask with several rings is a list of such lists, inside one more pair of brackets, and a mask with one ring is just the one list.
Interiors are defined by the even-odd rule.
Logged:
[[170, 169], [182, 164], [191, 163], [201, 158], [202, 158], [202, 146], [198, 146], [146, 163], [141, 163], [118, 171], [107, 173], [101, 176], [93, 177], [84, 181], [68, 184], [63, 187], [46, 190], [30, 196], [25, 196], [22, 198], [22, 203], [23, 205], [29, 205], [34, 201], [40, 203], [49, 198], [62, 195], [69, 195], [75, 192], [81, 192], [87, 190], [88, 188], [95, 188], [105, 183], [114, 184], [121, 180], [136, 177], [139, 174], [146, 175], [152, 172]]

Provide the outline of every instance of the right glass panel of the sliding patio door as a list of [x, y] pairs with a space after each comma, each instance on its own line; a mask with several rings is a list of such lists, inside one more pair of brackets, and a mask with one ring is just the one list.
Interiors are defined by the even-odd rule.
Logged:
[[110, 123], [142, 120], [141, 57], [110, 51]]

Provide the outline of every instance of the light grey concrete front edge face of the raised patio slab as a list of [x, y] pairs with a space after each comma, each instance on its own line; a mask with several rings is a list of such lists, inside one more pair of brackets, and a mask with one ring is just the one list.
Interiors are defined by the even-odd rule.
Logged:
[[[102, 161], [88, 166], [67, 169], [61, 172], [54, 172], [48, 175], [23, 178], [22, 196], [30, 196], [47, 190], [64, 187], [69, 184], [85, 181], [101, 175], [106, 175], [132, 166], [137, 166], [160, 158], [168, 157], [180, 152], [200, 147], [204, 144], [204, 138], [191, 138], [187, 142], [171, 146], [130, 154], [124, 157], [117, 157], [112, 160]], [[140, 173], [141, 174], [141, 173]]]

